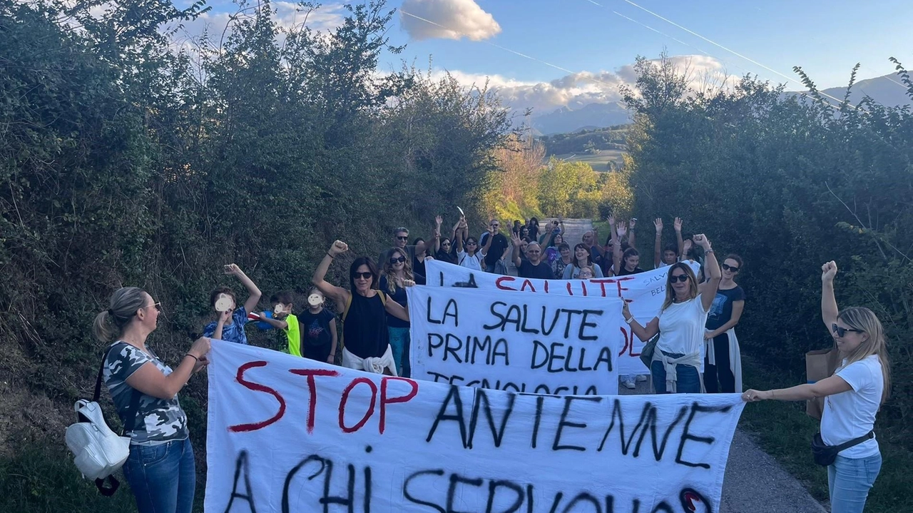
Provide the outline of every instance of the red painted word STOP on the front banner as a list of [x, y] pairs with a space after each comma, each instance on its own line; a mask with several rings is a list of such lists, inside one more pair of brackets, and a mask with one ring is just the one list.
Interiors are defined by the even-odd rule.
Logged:
[[[252, 382], [247, 377], [245, 377], [245, 372], [256, 369], [258, 367], [266, 367], [266, 361], [249, 361], [244, 365], [241, 365], [237, 368], [236, 380], [241, 383], [242, 386], [248, 390], [260, 393], [268, 393], [272, 395], [278, 402], [278, 410], [276, 414], [269, 417], [266, 420], [248, 423], [248, 424], [235, 424], [228, 426], [228, 431], [232, 433], [247, 433], [251, 431], [257, 431], [258, 429], [263, 429], [269, 424], [275, 424], [286, 414], [286, 401], [282, 397], [282, 394], [274, 388], [268, 387], [265, 384]], [[325, 378], [339, 378], [340, 373], [337, 371], [332, 371], [330, 369], [290, 369], [289, 372], [292, 374], [297, 374], [299, 376], [305, 376], [308, 383], [308, 392], [310, 393], [310, 398], [308, 400], [308, 418], [307, 418], [307, 427], [308, 433], [314, 432], [314, 423], [317, 418], [317, 377]], [[405, 395], [391, 396], [388, 391], [388, 386], [390, 382], [404, 382], [409, 386], [409, 392]], [[349, 402], [349, 395], [355, 390], [355, 387], [362, 385], [368, 387], [371, 390], [371, 401], [368, 404], [367, 409], [365, 410], [362, 418], [355, 424], [346, 425], [345, 424], [345, 413], [346, 413], [346, 404]], [[380, 401], [378, 401], [377, 395], [380, 393]], [[381, 385], [378, 388], [377, 384], [373, 382], [370, 378], [355, 378], [345, 387], [342, 391], [339, 402], [339, 425], [343, 433], [354, 433], [364, 426], [369, 419], [374, 414], [375, 406], [378, 406], [379, 410], [379, 422], [378, 429], [381, 434], [383, 434], [383, 429], [386, 427], [386, 415], [387, 415], [387, 406], [395, 403], [408, 403], [415, 397], [415, 394], [418, 393], [418, 383], [412, 380], [407, 380], [405, 378], [395, 378], [384, 376], [381, 378]]]

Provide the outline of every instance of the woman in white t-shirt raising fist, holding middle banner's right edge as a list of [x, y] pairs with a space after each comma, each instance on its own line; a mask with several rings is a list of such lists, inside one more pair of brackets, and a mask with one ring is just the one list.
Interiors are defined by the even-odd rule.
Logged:
[[719, 271], [717, 257], [703, 234], [694, 243], [704, 248], [708, 280], [698, 285], [698, 278], [686, 263], [669, 266], [666, 274], [666, 301], [659, 314], [641, 326], [624, 303], [624, 322], [640, 340], [650, 340], [659, 333], [650, 374], [656, 393], [700, 393], [700, 372], [704, 363], [704, 325], [713, 299], [717, 296]]

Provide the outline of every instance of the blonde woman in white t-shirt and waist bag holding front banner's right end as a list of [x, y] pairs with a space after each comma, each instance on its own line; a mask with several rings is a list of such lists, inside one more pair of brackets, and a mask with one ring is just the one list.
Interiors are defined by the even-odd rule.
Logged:
[[881, 470], [881, 453], [872, 428], [881, 404], [890, 392], [890, 365], [881, 321], [870, 309], [837, 309], [834, 298], [834, 261], [822, 267], [821, 314], [834, 337], [843, 362], [834, 375], [792, 388], [749, 390], [742, 399], [805, 401], [824, 397], [821, 439], [826, 445], [856, 441], [837, 454], [827, 467], [832, 513], [862, 513], [866, 497]]

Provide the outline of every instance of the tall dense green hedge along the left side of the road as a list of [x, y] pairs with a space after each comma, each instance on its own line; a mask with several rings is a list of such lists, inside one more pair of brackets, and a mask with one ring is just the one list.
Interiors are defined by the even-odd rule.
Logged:
[[[151, 342], [173, 361], [210, 315], [208, 291], [237, 287], [223, 264], [268, 298], [309, 288], [335, 238], [376, 255], [394, 226], [428, 236], [457, 204], [478, 221], [508, 132], [485, 91], [409, 68], [382, 77], [380, 52], [398, 51], [383, 1], [329, 34], [278, 26], [261, 2], [221, 47], [184, 54], [160, 29], [201, 4], [94, 4], [0, 0], [0, 373], [25, 409], [0, 419], [0, 455], [45, 437], [62, 449], [69, 415], [49, 410], [89, 393], [101, 351], [89, 327], [115, 288], [162, 301]], [[195, 435], [204, 401], [196, 379]], [[28, 508], [67, 508], [39, 502]]]

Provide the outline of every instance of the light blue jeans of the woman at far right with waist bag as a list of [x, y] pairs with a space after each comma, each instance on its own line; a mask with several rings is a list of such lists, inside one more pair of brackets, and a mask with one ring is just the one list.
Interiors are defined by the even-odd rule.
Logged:
[[866, 458], [837, 455], [827, 467], [827, 488], [831, 492], [831, 513], [862, 513], [868, 490], [881, 470], [881, 454]]

